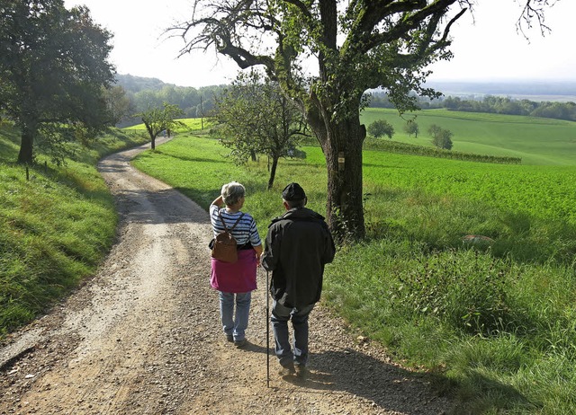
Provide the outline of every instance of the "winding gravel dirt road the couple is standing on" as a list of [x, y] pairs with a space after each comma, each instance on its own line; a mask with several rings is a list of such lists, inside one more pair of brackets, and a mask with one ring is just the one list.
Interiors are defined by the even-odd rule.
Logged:
[[[139, 147], [99, 164], [121, 214], [101, 269], [0, 349], [0, 414], [439, 414], [425, 378], [311, 314], [311, 375], [284, 380], [270, 357], [266, 274], [258, 272], [246, 349], [220, 330], [208, 284], [208, 214], [130, 167]], [[273, 344], [273, 340], [271, 340]]]

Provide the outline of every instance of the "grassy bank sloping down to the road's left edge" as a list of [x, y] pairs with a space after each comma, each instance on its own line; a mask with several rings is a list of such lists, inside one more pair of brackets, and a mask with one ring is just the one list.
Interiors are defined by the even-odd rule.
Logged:
[[118, 130], [63, 167], [39, 155], [30, 181], [14, 163], [18, 131], [0, 129], [0, 338], [31, 322], [94, 273], [112, 244], [117, 216], [95, 163], [145, 140]]

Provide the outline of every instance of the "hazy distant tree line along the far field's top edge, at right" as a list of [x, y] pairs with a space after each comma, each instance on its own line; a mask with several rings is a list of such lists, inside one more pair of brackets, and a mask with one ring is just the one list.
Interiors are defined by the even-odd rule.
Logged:
[[[576, 121], [576, 103], [574, 102], [534, 102], [488, 95], [482, 98], [482, 100], [448, 96], [431, 101], [428, 98], [419, 97], [418, 104], [423, 110], [446, 108], [447, 110], [527, 115], [547, 119]], [[374, 108], [395, 108], [388, 95], [379, 92], [372, 93], [370, 106]]]

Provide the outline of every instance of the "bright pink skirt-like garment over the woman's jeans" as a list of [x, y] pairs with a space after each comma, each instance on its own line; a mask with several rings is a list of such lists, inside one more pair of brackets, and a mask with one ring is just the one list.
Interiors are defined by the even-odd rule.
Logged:
[[211, 259], [210, 285], [224, 293], [247, 293], [257, 288], [256, 251], [238, 251], [238, 262], [230, 264]]

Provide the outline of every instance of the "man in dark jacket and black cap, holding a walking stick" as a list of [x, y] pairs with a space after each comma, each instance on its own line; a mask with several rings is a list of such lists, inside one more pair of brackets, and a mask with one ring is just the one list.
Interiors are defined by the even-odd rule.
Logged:
[[[268, 228], [262, 265], [272, 271], [272, 326], [280, 375], [306, 375], [308, 317], [320, 300], [324, 265], [334, 259], [334, 240], [324, 217], [304, 207], [306, 193], [298, 183], [282, 192], [286, 212]], [[288, 321], [293, 324], [293, 349]]]

